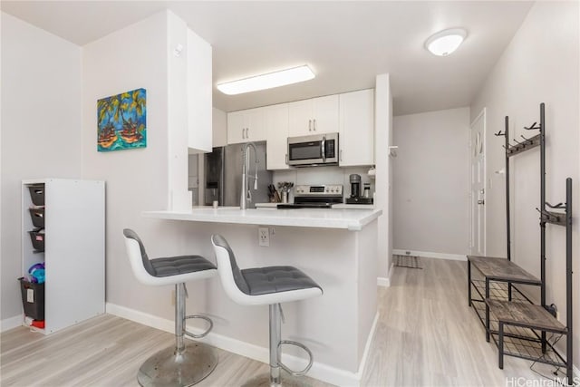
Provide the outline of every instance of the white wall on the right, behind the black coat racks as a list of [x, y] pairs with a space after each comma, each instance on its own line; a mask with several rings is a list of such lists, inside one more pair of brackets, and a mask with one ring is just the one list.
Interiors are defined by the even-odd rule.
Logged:
[[[487, 107], [488, 255], [506, 255], [505, 183], [493, 171], [504, 168], [504, 138], [492, 132], [503, 130], [509, 116], [510, 138], [529, 136], [522, 127], [539, 121], [539, 103], [546, 102], [546, 199], [565, 201], [565, 178], [574, 179], [574, 201], [580, 201], [579, 133], [579, 9], [577, 2], [537, 2], [512, 42], [507, 46], [471, 105], [472, 118]], [[512, 259], [539, 276], [539, 149], [529, 150], [511, 161]], [[575, 206], [574, 261], [577, 272], [578, 206]], [[546, 301], [555, 303], [565, 322], [565, 231], [547, 225]], [[573, 294], [580, 283], [575, 276]], [[577, 299], [576, 299], [577, 300]], [[575, 306], [577, 306], [577, 301]], [[575, 309], [575, 332], [580, 314]], [[564, 342], [564, 340], [562, 340]], [[580, 354], [575, 336], [575, 359]], [[577, 364], [577, 361], [576, 361]]]

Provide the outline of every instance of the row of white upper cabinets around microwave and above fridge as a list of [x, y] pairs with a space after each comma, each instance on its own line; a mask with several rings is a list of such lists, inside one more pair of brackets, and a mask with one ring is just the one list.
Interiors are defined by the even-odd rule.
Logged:
[[267, 169], [288, 169], [288, 137], [339, 133], [339, 166], [374, 164], [374, 90], [227, 113], [227, 143], [266, 140]]

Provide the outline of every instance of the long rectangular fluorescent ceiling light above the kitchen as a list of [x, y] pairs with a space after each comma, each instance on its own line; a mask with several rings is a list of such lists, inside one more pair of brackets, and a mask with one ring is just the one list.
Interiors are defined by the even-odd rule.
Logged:
[[266, 73], [238, 81], [218, 84], [218, 90], [227, 95], [241, 94], [243, 92], [256, 92], [257, 90], [272, 89], [297, 82], [304, 82], [314, 78], [314, 73], [308, 65], [281, 70], [274, 73]]

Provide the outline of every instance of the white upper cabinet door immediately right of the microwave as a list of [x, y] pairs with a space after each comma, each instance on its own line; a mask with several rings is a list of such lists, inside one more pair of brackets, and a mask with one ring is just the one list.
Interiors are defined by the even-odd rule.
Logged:
[[339, 165], [374, 164], [374, 90], [340, 94]]

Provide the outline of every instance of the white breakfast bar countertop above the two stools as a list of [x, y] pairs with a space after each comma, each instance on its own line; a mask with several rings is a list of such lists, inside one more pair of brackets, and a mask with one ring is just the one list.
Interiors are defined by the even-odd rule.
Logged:
[[343, 228], [360, 231], [382, 215], [381, 209], [292, 208], [192, 208], [191, 212], [144, 211], [143, 217], [192, 222], [264, 226]]

